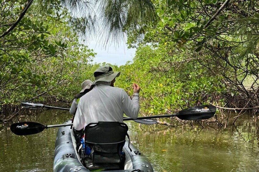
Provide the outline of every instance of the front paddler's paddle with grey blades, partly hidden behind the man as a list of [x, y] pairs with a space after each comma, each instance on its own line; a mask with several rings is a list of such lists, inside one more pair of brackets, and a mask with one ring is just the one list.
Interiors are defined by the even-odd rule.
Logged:
[[[64, 108], [64, 107], [46, 106], [46, 105], [41, 104], [41, 103], [33, 103], [33, 102], [21, 102], [21, 105], [22, 105], [22, 107], [27, 108], [27, 109], [37, 109], [37, 108], [41, 108], [41, 107], [47, 107], [47, 108], [60, 109], [60, 110], [66, 110], [66, 111], [70, 110], [70, 109]], [[155, 124], [157, 120], [155, 120], [155, 119], [149, 119], [149, 120], [140, 119], [140, 120], [133, 120], [133, 121], [135, 121], [137, 123], [140, 123], [140, 124], [152, 125], [152, 124]]]

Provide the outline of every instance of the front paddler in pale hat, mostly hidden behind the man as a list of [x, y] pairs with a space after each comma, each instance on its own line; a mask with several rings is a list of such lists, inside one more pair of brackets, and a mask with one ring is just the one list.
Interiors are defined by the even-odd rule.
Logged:
[[81, 84], [82, 90], [80, 91], [79, 94], [77, 94], [75, 96], [75, 99], [73, 100], [72, 105], [70, 107], [69, 113], [71, 115], [75, 115], [80, 98], [91, 90], [90, 88], [91, 88], [92, 84], [93, 84], [93, 82], [89, 79], [82, 82], [82, 84]]

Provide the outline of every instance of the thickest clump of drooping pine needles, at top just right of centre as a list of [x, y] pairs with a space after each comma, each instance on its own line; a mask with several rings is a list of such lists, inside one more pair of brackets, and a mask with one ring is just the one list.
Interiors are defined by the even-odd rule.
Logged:
[[149, 0], [98, 1], [102, 31], [106, 40], [122, 38], [125, 30], [134, 30], [157, 19], [154, 5]]

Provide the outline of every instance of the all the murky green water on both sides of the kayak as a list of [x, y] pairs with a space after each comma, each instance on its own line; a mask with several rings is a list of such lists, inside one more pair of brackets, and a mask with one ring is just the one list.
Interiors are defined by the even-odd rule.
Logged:
[[[45, 111], [27, 121], [61, 124], [68, 112]], [[227, 129], [139, 126], [127, 122], [131, 141], [157, 172], [259, 171], [258, 128], [246, 120]], [[36, 135], [16, 136], [0, 128], [0, 171], [53, 171], [57, 128]]]

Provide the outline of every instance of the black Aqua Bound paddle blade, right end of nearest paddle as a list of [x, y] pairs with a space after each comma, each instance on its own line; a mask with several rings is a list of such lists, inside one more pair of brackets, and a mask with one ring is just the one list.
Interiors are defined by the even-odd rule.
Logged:
[[181, 110], [175, 116], [182, 120], [202, 120], [213, 117], [216, 107], [212, 105], [200, 105]]

